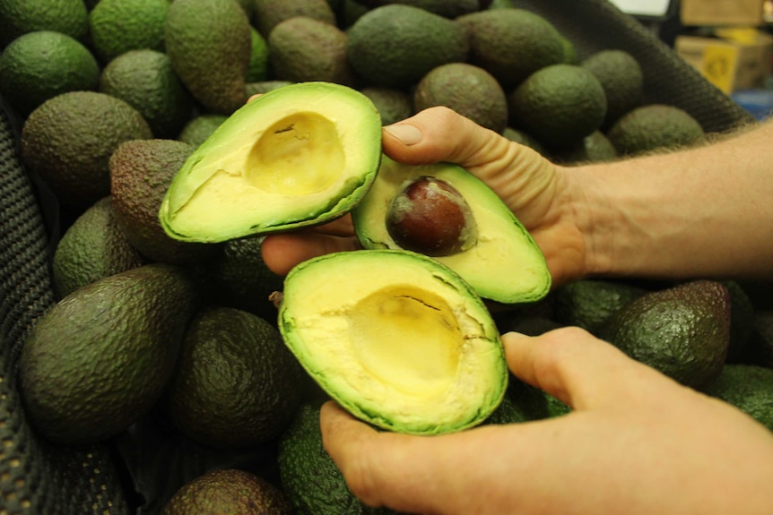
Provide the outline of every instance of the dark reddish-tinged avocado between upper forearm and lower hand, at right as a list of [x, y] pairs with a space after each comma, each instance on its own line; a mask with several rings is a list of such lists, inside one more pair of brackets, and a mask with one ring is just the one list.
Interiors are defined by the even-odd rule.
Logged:
[[730, 342], [730, 295], [699, 279], [648, 292], [614, 313], [600, 337], [696, 390], [717, 379]]

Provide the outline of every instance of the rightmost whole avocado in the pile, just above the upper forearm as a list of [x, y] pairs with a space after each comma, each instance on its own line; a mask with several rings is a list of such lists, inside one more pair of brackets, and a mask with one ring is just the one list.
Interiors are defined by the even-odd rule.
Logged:
[[702, 142], [698, 120], [680, 107], [647, 104], [621, 116], [606, 132], [621, 155], [633, 156]]

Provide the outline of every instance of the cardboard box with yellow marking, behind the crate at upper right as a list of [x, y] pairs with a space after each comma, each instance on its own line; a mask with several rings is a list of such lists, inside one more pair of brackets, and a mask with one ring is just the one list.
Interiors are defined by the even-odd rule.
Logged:
[[727, 94], [762, 88], [771, 73], [773, 40], [763, 33], [755, 40], [678, 36], [674, 49]]

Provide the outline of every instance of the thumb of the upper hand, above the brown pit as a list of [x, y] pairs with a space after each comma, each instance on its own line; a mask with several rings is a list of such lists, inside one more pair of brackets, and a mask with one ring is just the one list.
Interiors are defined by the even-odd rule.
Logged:
[[385, 126], [382, 145], [388, 157], [406, 164], [448, 161], [475, 167], [506, 152], [509, 142], [448, 107], [429, 107]]

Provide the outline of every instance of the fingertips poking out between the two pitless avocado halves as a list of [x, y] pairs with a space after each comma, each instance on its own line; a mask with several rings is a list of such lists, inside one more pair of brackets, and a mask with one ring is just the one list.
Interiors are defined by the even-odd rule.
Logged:
[[300, 262], [326, 254], [360, 248], [354, 236], [334, 236], [314, 230], [265, 236], [260, 250], [265, 265], [286, 275]]

